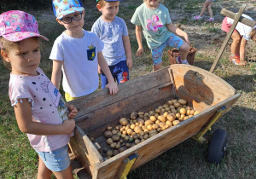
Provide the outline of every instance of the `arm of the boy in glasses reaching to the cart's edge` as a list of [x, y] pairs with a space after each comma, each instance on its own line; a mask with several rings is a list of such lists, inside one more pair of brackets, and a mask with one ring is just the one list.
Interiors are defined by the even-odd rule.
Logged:
[[101, 66], [102, 72], [104, 72], [104, 74], [108, 79], [108, 84], [106, 85], [106, 88], [108, 88], [109, 90], [109, 95], [114, 95], [119, 91], [117, 84], [115, 84], [113, 80], [113, 76], [109, 70], [108, 63], [105, 60], [104, 56], [102, 55], [102, 52], [98, 52], [97, 55], [98, 55], [98, 64], [99, 66]]

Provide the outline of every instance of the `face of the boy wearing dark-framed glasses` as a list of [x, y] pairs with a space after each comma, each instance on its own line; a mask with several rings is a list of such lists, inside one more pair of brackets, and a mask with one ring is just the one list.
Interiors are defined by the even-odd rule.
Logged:
[[[73, 18], [76, 18], [77, 16], [79, 16], [82, 13], [82, 18], [80, 20], [73, 20]], [[71, 22], [68, 24], [65, 24], [63, 21], [61, 20], [57, 20], [61, 25], [65, 26], [65, 28], [67, 29], [67, 31], [69, 32], [73, 32], [73, 33], [79, 33], [81, 32], [81, 29], [84, 26], [84, 11], [83, 12], [75, 12], [72, 14], [67, 14], [64, 16], [64, 18], [68, 19], [71, 18]], [[64, 19], [63, 18], [63, 19]]]

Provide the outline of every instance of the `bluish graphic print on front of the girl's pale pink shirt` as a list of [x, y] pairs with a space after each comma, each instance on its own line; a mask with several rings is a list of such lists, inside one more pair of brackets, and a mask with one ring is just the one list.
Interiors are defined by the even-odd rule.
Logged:
[[59, 117], [62, 121], [67, 120], [67, 106], [59, 90], [56, 89], [54, 84], [48, 82], [41, 83], [41, 87], [45, 93], [49, 94], [49, 99], [55, 104], [58, 109]]

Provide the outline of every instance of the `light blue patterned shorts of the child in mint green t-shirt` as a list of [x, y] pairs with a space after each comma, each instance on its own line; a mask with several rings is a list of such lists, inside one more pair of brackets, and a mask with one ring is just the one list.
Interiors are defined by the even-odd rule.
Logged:
[[170, 46], [179, 49], [183, 45], [183, 39], [178, 38], [176, 35], [172, 34], [170, 38], [167, 38], [166, 42], [162, 43], [159, 47], [151, 49], [152, 59], [154, 65], [158, 65], [162, 62], [163, 50], [166, 46]]

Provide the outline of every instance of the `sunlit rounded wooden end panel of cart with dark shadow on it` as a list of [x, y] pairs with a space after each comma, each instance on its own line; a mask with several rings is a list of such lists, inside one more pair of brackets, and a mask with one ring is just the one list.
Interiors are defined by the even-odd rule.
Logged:
[[195, 66], [172, 65], [177, 95], [196, 110], [212, 107], [235, 95], [236, 90], [218, 76]]

